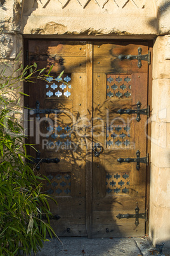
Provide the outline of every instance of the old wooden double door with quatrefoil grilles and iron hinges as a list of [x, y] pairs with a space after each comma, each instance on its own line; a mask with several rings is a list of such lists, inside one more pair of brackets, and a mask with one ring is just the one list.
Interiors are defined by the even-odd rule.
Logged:
[[30, 143], [53, 159], [39, 172], [58, 202], [49, 201], [56, 234], [144, 235], [147, 43], [28, 40], [25, 48], [27, 63], [46, 72], [53, 64], [52, 78], [25, 85], [25, 106]]

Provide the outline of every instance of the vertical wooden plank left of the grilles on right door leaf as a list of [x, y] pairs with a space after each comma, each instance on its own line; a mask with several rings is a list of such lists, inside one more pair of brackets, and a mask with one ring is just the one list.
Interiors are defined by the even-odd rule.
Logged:
[[105, 73], [93, 73], [93, 143], [103, 148], [99, 157], [93, 157], [93, 198], [105, 197], [106, 80]]

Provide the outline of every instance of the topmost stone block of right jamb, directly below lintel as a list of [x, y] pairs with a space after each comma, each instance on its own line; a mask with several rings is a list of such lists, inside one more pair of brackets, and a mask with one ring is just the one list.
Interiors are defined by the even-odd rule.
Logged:
[[158, 36], [153, 48], [153, 78], [169, 78], [170, 36]]

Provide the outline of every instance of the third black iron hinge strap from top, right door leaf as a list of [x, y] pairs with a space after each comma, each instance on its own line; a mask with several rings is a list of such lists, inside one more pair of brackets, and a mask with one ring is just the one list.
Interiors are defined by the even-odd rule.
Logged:
[[148, 166], [148, 153], [146, 157], [140, 157], [140, 150], [136, 151], [136, 158], [121, 158], [119, 157], [119, 159], [117, 159], [117, 162], [119, 162], [120, 164], [122, 162], [136, 162], [136, 169], [139, 171], [140, 170], [140, 162], [143, 164], [146, 164]]

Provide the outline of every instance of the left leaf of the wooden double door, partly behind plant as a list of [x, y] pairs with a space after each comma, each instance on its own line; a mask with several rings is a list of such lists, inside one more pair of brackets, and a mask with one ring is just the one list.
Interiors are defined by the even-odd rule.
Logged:
[[[87, 91], [86, 42], [30, 41], [30, 64], [38, 68], [50, 68], [51, 76], [46, 81], [37, 81], [34, 89], [29, 85], [29, 108], [56, 110], [55, 113], [32, 116], [41, 131], [30, 138], [42, 158], [60, 159], [58, 164], [40, 164], [40, 172], [48, 177], [44, 191], [58, 202], [49, 201], [53, 215], [51, 220], [58, 236], [84, 236], [86, 231], [86, 145], [83, 138], [86, 129]], [[64, 82], [60, 80], [60, 72]], [[43, 120], [42, 120], [43, 119]], [[33, 150], [31, 155], [36, 157]]]

